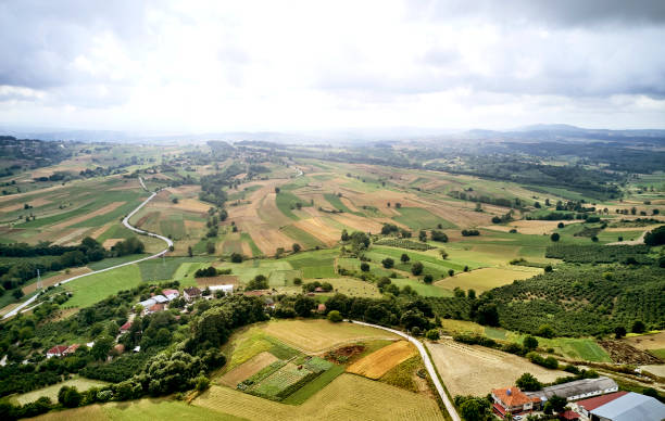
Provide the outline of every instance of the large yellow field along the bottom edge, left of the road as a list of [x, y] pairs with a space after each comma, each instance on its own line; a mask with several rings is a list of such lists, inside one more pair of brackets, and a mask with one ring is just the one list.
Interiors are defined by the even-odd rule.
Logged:
[[300, 406], [212, 386], [193, 405], [248, 420], [443, 420], [435, 400], [357, 375], [341, 374]]

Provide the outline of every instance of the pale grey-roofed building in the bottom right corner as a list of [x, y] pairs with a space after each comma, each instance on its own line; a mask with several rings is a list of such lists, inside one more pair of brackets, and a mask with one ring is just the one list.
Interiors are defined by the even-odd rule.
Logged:
[[651, 421], [665, 419], [665, 405], [657, 399], [629, 392], [589, 411], [592, 421]]

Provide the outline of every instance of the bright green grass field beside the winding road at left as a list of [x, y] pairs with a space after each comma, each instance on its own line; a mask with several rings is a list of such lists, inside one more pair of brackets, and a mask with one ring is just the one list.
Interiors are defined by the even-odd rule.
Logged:
[[73, 293], [65, 307], [89, 307], [109, 295], [122, 290], [129, 290], [141, 283], [141, 272], [138, 265], [123, 266], [122, 268], [93, 273], [76, 279], [63, 286]]

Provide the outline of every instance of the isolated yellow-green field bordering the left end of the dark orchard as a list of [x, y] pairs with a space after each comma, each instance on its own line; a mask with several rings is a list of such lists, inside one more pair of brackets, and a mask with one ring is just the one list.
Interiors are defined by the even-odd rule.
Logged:
[[542, 269], [520, 266], [519, 268], [482, 268], [470, 272], [463, 272], [451, 278], [446, 278], [435, 283], [448, 290], [460, 286], [462, 290], [476, 290], [476, 292], [488, 291], [497, 286], [513, 283], [516, 279], [528, 279]]

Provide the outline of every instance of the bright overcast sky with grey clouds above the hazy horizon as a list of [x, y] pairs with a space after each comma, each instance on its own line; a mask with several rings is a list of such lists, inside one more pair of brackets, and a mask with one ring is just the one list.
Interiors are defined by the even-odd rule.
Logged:
[[0, 125], [665, 128], [665, 1], [0, 0]]

